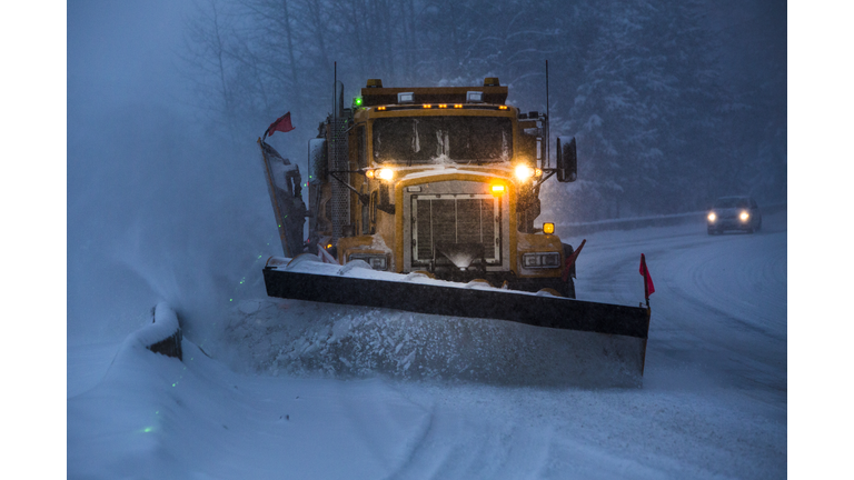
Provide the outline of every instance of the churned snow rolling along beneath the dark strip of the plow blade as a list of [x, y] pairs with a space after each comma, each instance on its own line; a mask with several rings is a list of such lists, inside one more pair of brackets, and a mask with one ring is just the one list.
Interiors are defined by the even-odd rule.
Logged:
[[[229, 312], [218, 349], [236, 370], [271, 376], [637, 386], [619, 336], [500, 321], [262, 299]], [[230, 360], [229, 360], [230, 358]]]

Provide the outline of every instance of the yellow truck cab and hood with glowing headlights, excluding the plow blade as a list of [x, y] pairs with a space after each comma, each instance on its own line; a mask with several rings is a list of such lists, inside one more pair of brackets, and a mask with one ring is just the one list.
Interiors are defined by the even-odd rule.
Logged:
[[572, 247], [535, 220], [542, 183], [575, 180], [575, 141], [558, 139], [549, 168], [547, 116], [506, 104], [507, 93], [497, 78], [369, 80], [309, 142], [309, 248], [341, 264], [574, 297]]

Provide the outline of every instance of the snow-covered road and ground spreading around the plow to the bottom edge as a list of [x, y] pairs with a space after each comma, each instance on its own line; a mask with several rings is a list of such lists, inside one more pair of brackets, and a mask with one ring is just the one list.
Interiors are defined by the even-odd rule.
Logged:
[[69, 343], [68, 476], [784, 478], [786, 236], [586, 237], [579, 299], [643, 300], [646, 254], [642, 388], [566, 381], [563, 332], [294, 301], [242, 302], [212, 359]]

